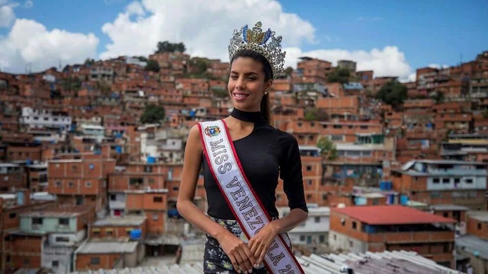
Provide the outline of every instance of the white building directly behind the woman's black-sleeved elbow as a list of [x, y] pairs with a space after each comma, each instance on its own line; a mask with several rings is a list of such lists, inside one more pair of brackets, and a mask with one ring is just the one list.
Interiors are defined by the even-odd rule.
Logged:
[[[313, 204], [307, 206], [307, 220], [289, 231], [288, 235], [294, 245], [326, 244], [329, 238], [330, 209]], [[283, 217], [290, 212], [290, 209], [279, 208], [278, 212], [280, 217]]]

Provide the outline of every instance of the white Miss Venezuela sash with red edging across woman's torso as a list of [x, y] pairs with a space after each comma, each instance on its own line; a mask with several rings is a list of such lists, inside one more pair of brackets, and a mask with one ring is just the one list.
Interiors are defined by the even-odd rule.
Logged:
[[[200, 140], [215, 182], [247, 238], [271, 221], [263, 203], [244, 174], [223, 120], [200, 122]], [[290, 244], [291, 245], [291, 244]], [[271, 243], [264, 263], [273, 274], [304, 273], [281, 234]]]

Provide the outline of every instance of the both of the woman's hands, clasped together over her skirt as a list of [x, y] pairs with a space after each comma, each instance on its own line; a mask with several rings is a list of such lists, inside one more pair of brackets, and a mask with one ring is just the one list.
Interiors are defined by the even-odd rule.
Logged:
[[252, 272], [252, 267], [257, 268], [261, 265], [277, 234], [278, 228], [270, 222], [252, 236], [247, 244], [231, 232], [225, 233], [218, 242], [231, 259], [234, 269], [238, 273], [242, 271], [247, 274]]

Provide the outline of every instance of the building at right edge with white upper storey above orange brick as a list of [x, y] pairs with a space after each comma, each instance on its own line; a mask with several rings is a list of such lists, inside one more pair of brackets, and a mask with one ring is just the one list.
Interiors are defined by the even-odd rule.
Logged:
[[485, 208], [486, 168], [483, 162], [413, 160], [392, 171], [395, 191], [429, 204]]

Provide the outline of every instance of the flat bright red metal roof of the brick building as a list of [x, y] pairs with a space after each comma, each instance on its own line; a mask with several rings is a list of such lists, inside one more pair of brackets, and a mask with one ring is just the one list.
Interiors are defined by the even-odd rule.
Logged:
[[438, 215], [422, 212], [403, 205], [364, 205], [333, 209], [340, 214], [370, 225], [455, 223]]

